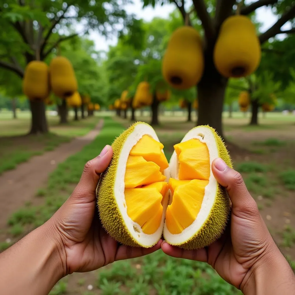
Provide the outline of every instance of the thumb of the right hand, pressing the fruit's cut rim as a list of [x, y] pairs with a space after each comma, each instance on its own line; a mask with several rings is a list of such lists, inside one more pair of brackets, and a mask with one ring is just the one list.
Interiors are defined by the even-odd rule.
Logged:
[[212, 172], [216, 180], [227, 190], [232, 202], [232, 212], [239, 217], [259, 217], [255, 200], [250, 195], [241, 174], [221, 159], [212, 163]]

